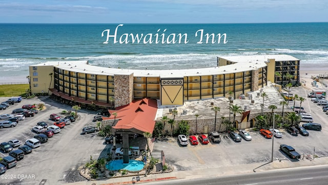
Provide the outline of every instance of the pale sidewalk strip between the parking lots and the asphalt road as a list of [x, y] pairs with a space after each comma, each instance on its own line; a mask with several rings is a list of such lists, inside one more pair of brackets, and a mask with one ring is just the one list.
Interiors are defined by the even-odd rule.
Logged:
[[314, 165], [327, 165], [328, 157], [315, 158], [314, 160], [299, 159], [299, 161], [292, 162], [291, 160], [274, 160], [273, 162], [261, 162], [252, 164], [241, 164], [231, 167], [215, 168], [204, 171], [173, 171], [170, 173], [150, 174], [147, 177], [139, 174], [140, 181], [136, 181], [135, 177], [120, 177], [107, 180], [98, 181], [80, 181], [67, 183], [67, 185], [118, 185], [118, 184], [135, 184], [152, 181], [174, 180], [174, 179], [196, 179], [220, 177], [244, 173], [264, 172], [269, 170], [279, 170], [298, 167], [309, 167]]

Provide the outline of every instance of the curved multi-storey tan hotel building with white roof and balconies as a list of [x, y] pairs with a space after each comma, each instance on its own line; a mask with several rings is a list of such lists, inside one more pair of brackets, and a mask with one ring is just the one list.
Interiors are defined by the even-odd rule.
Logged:
[[161, 105], [182, 105], [190, 100], [225, 97], [229, 91], [234, 97], [247, 96], [267, 81], [298, 84], [299, 62], [284, 54], [252, 55], [218, 57], [216, 67], [134, 70], [60, 61], [32, 65], [29, 72], [32, 93], [49, 91], [70, 101], [115, 108], [145, 97], [159, 99]]

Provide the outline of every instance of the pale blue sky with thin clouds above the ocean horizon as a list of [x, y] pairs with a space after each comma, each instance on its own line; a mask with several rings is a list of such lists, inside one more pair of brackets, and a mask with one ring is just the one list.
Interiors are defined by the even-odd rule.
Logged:
[[326, 0], [0, 0], [0, 23], [328, 22]]

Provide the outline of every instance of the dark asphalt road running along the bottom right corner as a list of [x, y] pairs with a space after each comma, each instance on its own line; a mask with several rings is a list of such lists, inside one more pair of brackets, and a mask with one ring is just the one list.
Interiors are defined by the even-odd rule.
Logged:
[[174, 185], [199, 185], [199, 184], [224, 184], [224, 185], [325, 185], [328, 181], [328, 165], [300, 169], [275, 170], [260, 173], [233, 175], [226, 177], [181, 179], [145, 184], [174, 184]]

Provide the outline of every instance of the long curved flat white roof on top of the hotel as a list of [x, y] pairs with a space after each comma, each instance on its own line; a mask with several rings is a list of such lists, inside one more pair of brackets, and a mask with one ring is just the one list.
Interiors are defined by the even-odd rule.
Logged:
[[[250, 55], [250, 56], [234, 56], [234, 57], [220, 57], [225, 60], [236, 62], [236, 64], [226, 66], [215, 66], [197, 69], [176, 69], [176, 70], [140, 70], [140, 69], [118, 69], [106, 68], [94, 65], [89, 65], [88, 61], [52, 61], [33, 66], [52, 65], [63, 70], [74, 72], [89, 73], [95, 75], [131, 75], [134, 77], [185, 77], [185, 76], [204, 76], [204, 75], [218, 75], [224, 73], [243, 72], [267, 66], [265, 62], [268, 59], [275, 59], [276, 61], [290, 61], [298, 60], [295, 57], [286, 54], [274, 55]], [[239, 64], [238, 64], [239, 63]], [[241, 64], [241, 65], [240, 65]]]

